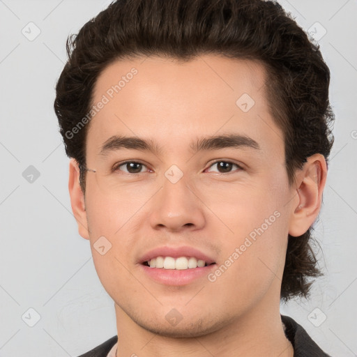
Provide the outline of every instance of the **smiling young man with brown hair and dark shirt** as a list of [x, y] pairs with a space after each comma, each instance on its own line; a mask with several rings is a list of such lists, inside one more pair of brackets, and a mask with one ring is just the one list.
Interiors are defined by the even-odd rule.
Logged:
[[271, 1], [123, 0], [68, 56], [70, 200], [117, 328], [82, 356], [328, 356], [279, 310], [319, 275], [318, 47]]

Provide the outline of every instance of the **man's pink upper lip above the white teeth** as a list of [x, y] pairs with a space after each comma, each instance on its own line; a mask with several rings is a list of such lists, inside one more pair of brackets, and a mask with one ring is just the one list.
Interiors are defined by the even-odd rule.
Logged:
[[156, 257], [172, 257], [172, 258], [179, 258], [179, 257], [195, 257], [197, 259], [201, 259], [206, 261], [206, 264], [215, 263], [215, 260], [208, 255], [205, 255], [197, 248], [183, 246], [183, 247], [158, 247], [149, 252], [146, 252], [140, 259], [139, 263], [143, 264], [145, 261], [149, 261], [150, 259]]

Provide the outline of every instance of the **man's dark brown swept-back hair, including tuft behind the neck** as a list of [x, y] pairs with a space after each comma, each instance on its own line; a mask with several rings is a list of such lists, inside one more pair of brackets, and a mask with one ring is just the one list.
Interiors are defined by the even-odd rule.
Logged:
[[[251, 59], [268, 75], [266, 96], [284, 133], [289, 184], [314, 153], [326, 162], [335, 116], [328, 100], [330, 71], [319, 45], [276, 2], [263, 0], [118, 0], [67, 40], [68, 61], [56, 84], [54, 110], [66, 153], [86, 165], [88, 124], [68, 132], [89, 112], [102, 70], [119, 59], [159, 55], [190, 61], [200, 54]], [[85, 172], [81, 169], [85, 192]], [[281, 298], [307, 296], [309, 278], [321, 275], [311, 229], [289, 235]]]

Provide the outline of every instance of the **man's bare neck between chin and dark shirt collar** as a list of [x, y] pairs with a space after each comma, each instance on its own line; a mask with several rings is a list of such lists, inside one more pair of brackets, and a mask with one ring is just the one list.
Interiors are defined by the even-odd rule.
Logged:
[[151, 333], [132, 321], [115, 304], [118, 349], [116, 357], [293, 357], [278, 308], [255, 307], [212, 333], [195, 337], [166, 337]]

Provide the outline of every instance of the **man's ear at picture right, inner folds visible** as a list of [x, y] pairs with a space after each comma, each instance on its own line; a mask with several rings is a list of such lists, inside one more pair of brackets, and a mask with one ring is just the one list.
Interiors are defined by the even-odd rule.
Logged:
[[324, 155], [307, 158], [301, 172], [296, 175], [297, 193], [291, 212], [289, 234], [301, 236], [309, 229], [319, 214], [327, 176]]

